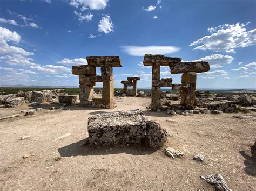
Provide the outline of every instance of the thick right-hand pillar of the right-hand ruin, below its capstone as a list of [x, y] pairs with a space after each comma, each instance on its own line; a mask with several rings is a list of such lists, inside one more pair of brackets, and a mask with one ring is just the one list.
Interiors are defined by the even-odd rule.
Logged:
[[[195, 84], [196, 87], [197, 82], [197, 73], [196, 72], [188, 72], [184, 73], [181, 76], [181, 83], [182, 84]], [[181, 101], [180, 103], [186, 107], [194, 107], [194, 97], [195, 97], [195, 89], [190, 90], [182, 90], [181, 91]]]

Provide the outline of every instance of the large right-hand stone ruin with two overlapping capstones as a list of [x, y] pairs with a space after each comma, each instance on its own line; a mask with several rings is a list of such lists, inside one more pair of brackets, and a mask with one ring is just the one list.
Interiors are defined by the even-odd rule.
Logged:
[[[197, 73], [210, 70], [208, 62], [181, 62], [181, 58], [152, 54], [145, 54], [143, 65], [152, 66], [152, 111], [161, 109], [161, 87], [172, 87], [172, 90], [181, 90], [181, 105], [184, 105], [187, 108], [193, 108]], [[169, 66], [171, 74], [183, 74], [181, 76], [181, 84], [172, 84], [172, 78], [160, 79], [161, 66]]]

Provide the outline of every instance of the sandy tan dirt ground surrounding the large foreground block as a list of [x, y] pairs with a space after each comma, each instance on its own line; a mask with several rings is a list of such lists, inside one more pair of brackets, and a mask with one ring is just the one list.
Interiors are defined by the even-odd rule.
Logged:
[[[150, 99], [115, 98], [113, 110], [82, 108], [46, 112], [58, 104], [42, 104], [42, 111], [0, 121], [1, 190], [215, 190], [200, 175], [222, 174], [233, 190], [256, 190], [253, 153], [256, 120], [250, 114], [167, 115], [146, 110]], [[176, 103], [176, 102], [173, 102]], [[23, 105], [0, 108], [0, 117], [35, 109]], [[141, 109], [170, 133], [167, 146], [185, 153], [171, 159], [164, 148], [88, 147], [87, 118], [101, 112]], [[62, 140], [57, 138], [71, 133]], [[19, 137], [30, 136], [25, 140]], [[253, 154], [252, 154], [252, 153]], [[23, 159], [24, 154], [31, 157]], [[204, 162], [193, 160], [203, 154]], [[61, 158], [58, 158], [61, 157]]]

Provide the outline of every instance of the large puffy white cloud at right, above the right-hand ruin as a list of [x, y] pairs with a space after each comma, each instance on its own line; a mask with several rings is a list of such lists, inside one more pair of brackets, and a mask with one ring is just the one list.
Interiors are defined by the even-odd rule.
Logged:
[[224, 24], [208, 28], [210, 35], [194, 41], [190, 46], [197, 46], [194, 49], [203, 51], [235, 53], [235, 48], [256, 44], [256, 29], [246, 31], [245, 26], [249, 23]]

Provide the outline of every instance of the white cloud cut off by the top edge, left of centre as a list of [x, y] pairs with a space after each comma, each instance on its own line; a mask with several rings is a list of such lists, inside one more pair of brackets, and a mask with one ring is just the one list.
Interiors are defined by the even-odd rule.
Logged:
[[69, 4], [76, 8], [82, 6], [82, 10], [86, 10], [87, 8], [91, 10], [100, 10], [106, 8], [107, 2], [108, 0], [71, 0]]

